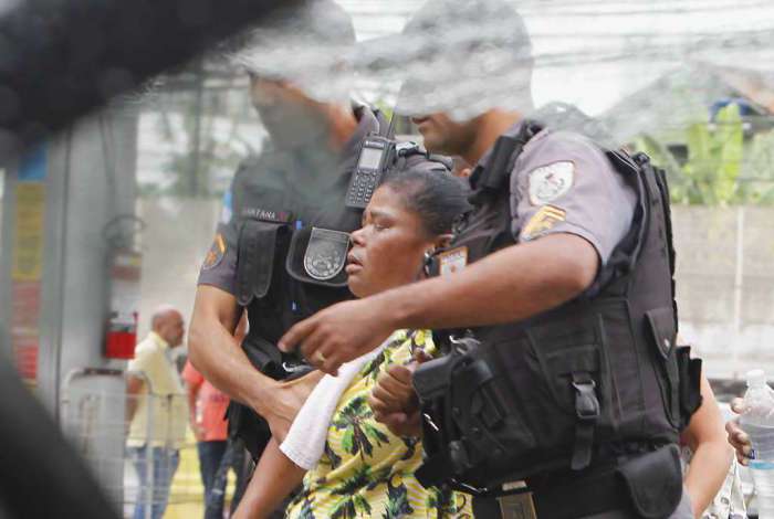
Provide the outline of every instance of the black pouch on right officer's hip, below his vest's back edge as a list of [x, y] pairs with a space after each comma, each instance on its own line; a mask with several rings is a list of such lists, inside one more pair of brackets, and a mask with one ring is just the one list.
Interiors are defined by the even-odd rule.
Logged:
[[618, 467], [635, 510], [645, 519], [663, 519], [682, 498], [682, 472], [677, 445], [661, 447]]

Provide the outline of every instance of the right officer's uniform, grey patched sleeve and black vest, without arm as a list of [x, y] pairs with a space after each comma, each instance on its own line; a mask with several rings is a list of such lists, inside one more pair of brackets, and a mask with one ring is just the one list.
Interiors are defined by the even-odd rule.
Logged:
[[699, 405], [700, 363], [674, 348], [663, 176], [642, 157], [522, 121], [471, 186], [475, 209], [436, 272], [555, 233], [587, 241], [599, 269], [558, 308], [441, 333], [451, 353], [415, 374], [420, 481], [498, 495], [524, 479], [541, 518], [691, 517], [676, 443]]

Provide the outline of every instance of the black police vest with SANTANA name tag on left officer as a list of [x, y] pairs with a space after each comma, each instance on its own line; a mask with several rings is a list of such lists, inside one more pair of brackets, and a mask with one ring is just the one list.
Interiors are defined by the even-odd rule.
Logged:
[[[380, 121], [380, 128], [387, 125]], [[409, 167], [449, 172], [450, 161], [420, 147], [404, 145], [385, 176]], [[335, 168], [335, 161], [323, 168]], [[247, 165], [234, 180], [234, 215], [239, 219], [236, 297], [247, 308], [250, 329], [242, 349], [264, 374], [283, 380], [312, 368], [296, 352], [276, 348], [294, 324], [323, 308], [352, 298], [344, 269], [349, 233], [359, 229], [363, 211], [348, 208], [345, 195], [352, 170], [331, 178], [324, 197], [301, 195], [294, 186], [294, 157], [265, 156]], [[308, 189], [308, 188], [307, 188]], [[241, 437], [258, 457], [270, 436], [252, 409], [232, 403], [230, 434]]]

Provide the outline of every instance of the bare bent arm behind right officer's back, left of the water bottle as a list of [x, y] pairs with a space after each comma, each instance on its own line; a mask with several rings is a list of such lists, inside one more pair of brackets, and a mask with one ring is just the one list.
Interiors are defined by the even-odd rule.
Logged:
[[703, 374], [701, 395], [702, 404], [682, 433], [682, 439], [693, 452], [684, 483], [697, 518], [701, 517], [723, 485], [733, 455], [725, 441], [718, 401]]

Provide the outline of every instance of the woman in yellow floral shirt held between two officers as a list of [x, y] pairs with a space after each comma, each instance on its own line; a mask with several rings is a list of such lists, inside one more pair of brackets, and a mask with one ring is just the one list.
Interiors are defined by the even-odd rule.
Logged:
[[[467, 208], [461, 182], [449, 174], [409, 169], [390, 177], [374, 193], [363, 227], [352, 234], [346, 268], [353, 294], [366, 297], [417, 280], [425, 254], [449, 240], [452, 221]], [[365, 363], [339, 398], [324, 453], [303, 477], [285, 517], [472, 517], [470, 496], [417, 481], [421, 441], [393, 434], [368, 405], [380, 373], [433, 354], [428, 331], [398, 330]], [[268, 517], [303, 474], [272, 441], [234, 518]]]

